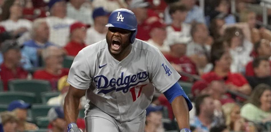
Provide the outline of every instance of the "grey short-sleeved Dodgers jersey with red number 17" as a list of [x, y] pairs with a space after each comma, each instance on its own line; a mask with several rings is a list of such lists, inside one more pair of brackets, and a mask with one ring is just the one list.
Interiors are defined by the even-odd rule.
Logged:
[[151, 103], [154, 87], [167, 91], [181, 76], [163, 54], [145, 41], [136, 39], [132, 51], [121, 61], [108, 51], [106, 39], [82, 49], [75, 57], [68, 83], [87, 89], [89, 106], [96, 106], [120, 122], [142, 116]]

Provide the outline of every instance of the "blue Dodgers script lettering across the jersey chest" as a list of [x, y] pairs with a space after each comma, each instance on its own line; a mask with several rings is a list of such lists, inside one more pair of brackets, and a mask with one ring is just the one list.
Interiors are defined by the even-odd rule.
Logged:
[[[123, 72], [121, 73], [121, 77], [118, 79], [112, 78], [108, 80], [106, 76], [99, 75], [95, 76], [93, 81], [96, 83], [96, 88], [101, 89], [99, 93], [110, 93], [111, 91], [123, 91], [127, 93], [130, 87], [136, 86], [137, 84], [146, 81], [149, 79], [149, 74], [147, 72], [139, 72], [134, 75], [123, 76]], [[119, 87], [116, 89], [116, 85]], [[109, 88], [110, 89], [107, 89]]]

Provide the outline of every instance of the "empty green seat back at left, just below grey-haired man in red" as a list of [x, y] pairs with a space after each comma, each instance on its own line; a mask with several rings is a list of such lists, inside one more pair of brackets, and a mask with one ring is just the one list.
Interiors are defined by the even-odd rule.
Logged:
[[31, 92], [37, 95], [38, 103], [41, 102], [41, 93], [51, 91], [51, 84], [46, 80], [15, 79], [8, 82], [10, 91]]

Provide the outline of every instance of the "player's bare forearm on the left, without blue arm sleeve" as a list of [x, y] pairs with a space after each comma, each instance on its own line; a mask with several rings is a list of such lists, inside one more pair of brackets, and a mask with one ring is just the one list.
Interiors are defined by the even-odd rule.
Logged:
[[66, 95], [64, 102], [64, 114], [68, 124], [76, 123], [79, 113], [80, 98]]

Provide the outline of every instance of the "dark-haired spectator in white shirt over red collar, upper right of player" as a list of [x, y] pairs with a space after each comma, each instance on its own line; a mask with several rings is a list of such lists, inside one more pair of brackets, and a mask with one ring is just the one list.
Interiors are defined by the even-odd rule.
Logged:
[[169, 6], [169, 14], [172, 18], [172, 23], [166, 28], [167, 34], [172, 32], [181, 32], [185, 36], [191, 36], [191, 25], [184, 23], [187, 16], [187, 8], [185, 5], [182, 5], [179, 2], [172, 3]]

